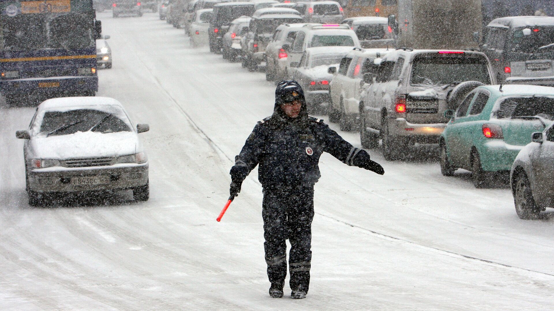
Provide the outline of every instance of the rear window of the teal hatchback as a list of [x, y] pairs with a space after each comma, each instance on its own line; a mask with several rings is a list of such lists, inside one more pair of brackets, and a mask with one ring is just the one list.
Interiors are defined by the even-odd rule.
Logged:
[[554, 120], [554, 97], [510, 97], [498, 107], [494, 113], [497, 118], [539, 117]]

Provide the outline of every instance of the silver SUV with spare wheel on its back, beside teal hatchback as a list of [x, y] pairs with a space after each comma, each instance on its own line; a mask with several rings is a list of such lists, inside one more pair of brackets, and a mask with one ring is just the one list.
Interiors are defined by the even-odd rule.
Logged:
[[[376, 74], [365, 74], [360, 95], [362, 146], [382, 139], [387, 160], [414, 143], [438, 143], [455, 109], [455, 86], [464, 81], [495, 84], [485, 54], [476, 51], [397, 49], [384, 56]], [[460, 85], [461, 86], [461, 85]], [[457, 96], [456, 96], [457, 97]]]

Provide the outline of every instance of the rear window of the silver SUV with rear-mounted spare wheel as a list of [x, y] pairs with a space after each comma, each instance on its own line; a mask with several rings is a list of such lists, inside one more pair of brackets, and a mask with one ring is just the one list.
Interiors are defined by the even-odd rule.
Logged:
[[490, 84], [483, 58], [422, 57], [413, 61], [411, 85], [450, 85], [463, 81]]

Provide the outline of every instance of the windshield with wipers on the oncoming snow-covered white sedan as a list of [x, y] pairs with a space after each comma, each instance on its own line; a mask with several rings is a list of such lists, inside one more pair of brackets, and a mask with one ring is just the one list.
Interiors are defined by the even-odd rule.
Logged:
[[40, 125], [40, 132], [47, 133], [47, 136], [87, 131], [112, 133], [130, 132], [131, 129], [120, 118], [93, 109], [47, 111]]

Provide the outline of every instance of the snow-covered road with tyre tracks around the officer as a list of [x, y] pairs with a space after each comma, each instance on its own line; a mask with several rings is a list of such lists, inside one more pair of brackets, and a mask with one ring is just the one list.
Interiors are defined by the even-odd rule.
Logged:
[[[189, 48], [183, 30], [157, 16], [98, 14], [114, 56], [98, 95], [151, 127], [141, 134], [146, 203], [121, 193], [30, 208], [14, 133], [34, 107], [0, 110], [1, 310], [554, 309], [552, 211], [518, 219], [506, 185], [443, 177], [429, 148], [414, 149], [423, 160], [399, 162], [370, 150], [384, 176], [325, 154], [310, 293], [269, 298], [256, 171], [216, 217], [231, 159], [270, 115], [275, 86]], [[360, 146], [357, 133], [339, 133]]]

